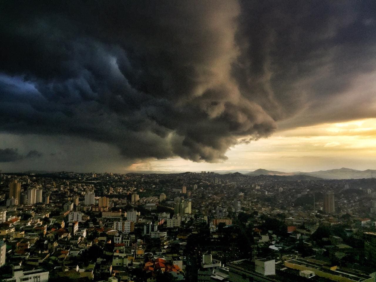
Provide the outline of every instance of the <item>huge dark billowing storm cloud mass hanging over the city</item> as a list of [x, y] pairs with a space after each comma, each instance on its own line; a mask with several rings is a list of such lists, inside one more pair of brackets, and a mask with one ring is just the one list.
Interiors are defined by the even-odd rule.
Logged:
[[79, 136], [131, 159], [226, 159], [374, 70], [364, 2], [1, 6], [0, 130]]

